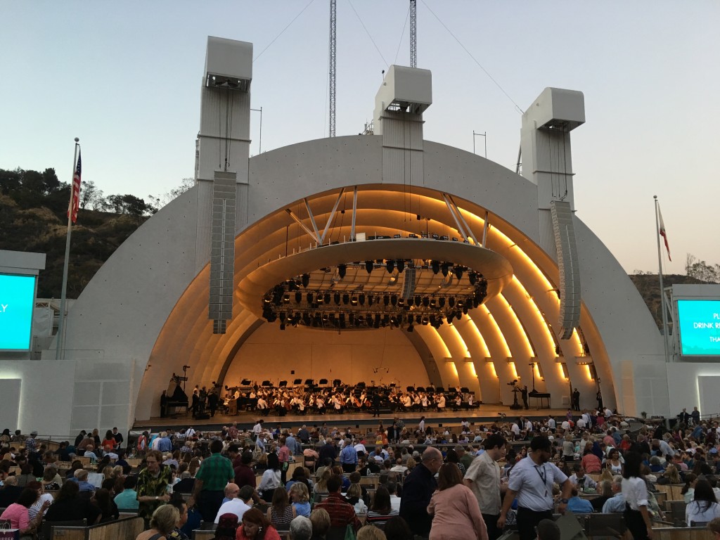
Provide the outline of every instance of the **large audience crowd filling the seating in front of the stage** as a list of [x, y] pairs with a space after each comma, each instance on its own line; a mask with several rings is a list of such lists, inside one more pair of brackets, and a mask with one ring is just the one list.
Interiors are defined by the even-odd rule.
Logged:
[[671, 431], [644, 423], [631, 433], [611, 411], [568, 411], [562, 422], [463, 419], [452, 431], [424, 417], [410, 427], [395, 417], [373, 433], [264, 424], [145, 432], [127, 448], [112, 431], [102, 441], [81, 432], [55, 451], [35, 432], [5, 430], [0, 519], [24, 535], [42, 521], [137, 515], [146, 528], [138, 540], [188, 539], [210, 526], [215, 538], [237, 540], [336, 538], [348, 528], [358, 539], [495, 540], [521, 520], [523, 460], [557, 468], [554, 510], [624, 513], [630, 526], [629, 482], [642, 479], [639, 507], [650, 521], [668, 519], [657, 503], [663, 484], [683, 486], [688, 525], [720, 518], [716, 422], [683, 420]]

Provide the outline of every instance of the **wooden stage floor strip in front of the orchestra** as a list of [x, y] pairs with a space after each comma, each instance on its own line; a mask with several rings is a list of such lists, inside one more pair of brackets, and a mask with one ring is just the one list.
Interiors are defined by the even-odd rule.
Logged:
[[192, 426], [201, 430], [220, 430], [222, 426], [237, 422], [239, 429], [250, 429], [257, 422], [258, 418], [265, 420], [268, 427], [276, 426], [282, 423], [284, 428], [300, 428], [303, 424], [306, 426], [319, 426], [328, 423], [328, 426], [350, 426], [356, 429], [377, 427], [380, 421], [384, 426], [390, 425], [392, 419], [397, 414], [398, 418], [402, 418], [405, 426], [415, 428], [421, 415], [425, 415], [426, 426], [433, 428], [442, 427], [444, 424], [454, 426], [459, 425], [463, 418], [467, 418], [471, 425], [487, 424], [496, 420], [503, 420], [502, 415], [506, 416], [505, 421], [517, 418], [519, 415], [526, 416], [531, 420], [546, 418], [548, 415], [554, 415], [555, 418], [564, 418], [567, 409], [540, 409], [530, 408], [528, 410], [518, 409], [511, 410], [508, 405], [480, 405], [479, 408], [473, 410], [446, 410], [444, 413], [438, 413], [436, 410], [426, 413], [387, 413], [380, 415], [380, 418], [373, 418], [372, 413], [356, 413], [350, 412], [345, 414], [307, 414], [307, 415], [268, 415], [261, 416], [256, 412], [248, 412], [241, 410], [237, 415], [222, 415], [216, 413], [214, 417], [207, 420], [195, 420], [192, 415], [181, 413], [176, 417], [170, 418], [150, 418], [149, 420], [136, 420], [132, 426], [134, 431], [158, 431], [165, 428], [179, 429]]

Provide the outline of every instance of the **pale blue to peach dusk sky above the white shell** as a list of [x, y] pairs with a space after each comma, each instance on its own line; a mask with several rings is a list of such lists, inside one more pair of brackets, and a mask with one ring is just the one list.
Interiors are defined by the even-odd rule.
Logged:
[[[338, 0], [337, 135], [372, 120], [382, 70], [407, 66], [407, 0]], [[107, 194], [194, 174], [208, 35], [253, 42], [251, 153], [328, 135], [329, 0], [0, 0], [0, 168], [54, 167]], [[575, 207], [628, 272], [657, 271], [653, 195], [672, 262], [720, 264], [720, 2], [418, 0], [433, 73], [428, 140], [515, 169], [521, 113], [546, 86], [585, 94]], [[483, 138], [476, 138], [478, 153]]]

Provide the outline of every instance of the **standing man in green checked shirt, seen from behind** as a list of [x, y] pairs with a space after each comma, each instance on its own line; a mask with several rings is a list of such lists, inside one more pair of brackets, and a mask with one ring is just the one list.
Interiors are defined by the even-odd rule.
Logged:
[[222, 441], [215, 439], [210, 443], [212, 455], [205, 459], [195, 475], [192, 495], [187, 501], [189, 508], [197, 502], [197, 508], [203, 521], [213, 521], [220, 510], [225, 496], [225, 486], [235, 480], [235, 471], [230, 459], [220, 455]]

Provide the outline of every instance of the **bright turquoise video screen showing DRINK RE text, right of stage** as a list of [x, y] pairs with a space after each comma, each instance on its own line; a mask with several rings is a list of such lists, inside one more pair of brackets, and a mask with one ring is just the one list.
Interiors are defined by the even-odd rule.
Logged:
[[720, 356], [720, 300], [678, 300], [680, 350], [685, 356]]

